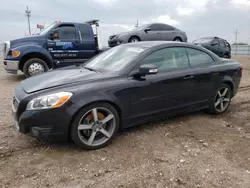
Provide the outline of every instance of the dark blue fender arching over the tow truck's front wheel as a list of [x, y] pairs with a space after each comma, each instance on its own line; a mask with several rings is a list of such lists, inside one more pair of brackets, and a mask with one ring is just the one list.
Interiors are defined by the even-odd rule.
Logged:
[[17, 50], [21, 52], [20, 56], [17, 57], [19, 61], [22, 61], [22, 58], [27, 54], [40, 53], [46, 57], [47, 59], [46, 63], [48, 63], [50, 67], [53, 67], [53, 61], [52, 61], [52, 57], [50, 53], [46, 49], [41, 47], [40, 45], [25, 44], [25, 45], [17, 46], [16, 48], [13, 48], [12, 50]]

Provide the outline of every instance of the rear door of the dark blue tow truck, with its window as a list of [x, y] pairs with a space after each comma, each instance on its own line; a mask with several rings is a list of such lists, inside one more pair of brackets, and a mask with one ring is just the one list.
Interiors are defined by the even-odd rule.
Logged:
[[88, 24], [79, 24], [80, 42], [77, 45], [79, 57], [89, 59], [96, 54], [97, 45], [94, 38], [93, 29]]

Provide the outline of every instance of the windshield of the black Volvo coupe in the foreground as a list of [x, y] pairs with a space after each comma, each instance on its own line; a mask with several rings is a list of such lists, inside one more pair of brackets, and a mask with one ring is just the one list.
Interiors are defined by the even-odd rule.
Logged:
[[84, 67], [92, 70], [120, 71], [146, 48], [121, 45], [90, 60]]

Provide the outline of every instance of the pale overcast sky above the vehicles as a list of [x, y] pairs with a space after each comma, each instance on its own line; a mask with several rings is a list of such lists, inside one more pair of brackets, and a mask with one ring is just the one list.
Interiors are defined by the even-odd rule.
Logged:
[[250, 43], [250, 0], [0, 0], [0, 42], [28, 33], [26, 6], [31, 10], [32, 33], [36, 24], [53, 21], [100, 19], [102, 42], [108, 36], [139, 25], [161, 22], [186, 31], [188, 41], [219, 36], [230, 42]]

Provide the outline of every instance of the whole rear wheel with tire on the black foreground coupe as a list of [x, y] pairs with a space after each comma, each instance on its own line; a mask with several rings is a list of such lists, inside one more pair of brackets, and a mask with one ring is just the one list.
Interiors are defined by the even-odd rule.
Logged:
[[[225, 91], [226, 93], [224, 94]], [[230, 106], [231, 98], [232, 98], [231, 87], [227, 84], [222, 84], [221, 87], [214, 94], [214, 97], [210, 102], [210, 108], [208, 109], [208, 112], [214, 115], [219, 115], [226, 112], [228, 107]], [[221, 103], [223, 104], [223, 108], [221, 106]]]

